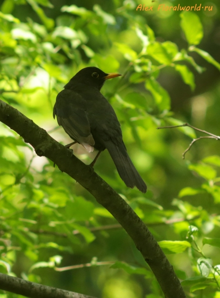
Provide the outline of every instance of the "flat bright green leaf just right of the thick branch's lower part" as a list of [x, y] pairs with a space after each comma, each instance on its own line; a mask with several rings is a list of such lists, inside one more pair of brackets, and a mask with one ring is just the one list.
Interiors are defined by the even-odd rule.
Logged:
[[162, 248], [163, 252], [166, 254], [182, 253], [188, 247], [191, 247], [191, 244], [188, 241], [163, 240], [163, 241], [159, 241], [158, 244]]

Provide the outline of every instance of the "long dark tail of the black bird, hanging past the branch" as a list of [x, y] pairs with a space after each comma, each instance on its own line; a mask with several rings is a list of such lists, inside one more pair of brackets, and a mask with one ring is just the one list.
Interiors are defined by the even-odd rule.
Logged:
[[126, 186], [130, 188], [136, 186], [142, 193], [145, 193], [147, 186], [130, 160], [125, 145], [122, 143], [116, 146], [111, 141], [105, 141], [105, 146]]

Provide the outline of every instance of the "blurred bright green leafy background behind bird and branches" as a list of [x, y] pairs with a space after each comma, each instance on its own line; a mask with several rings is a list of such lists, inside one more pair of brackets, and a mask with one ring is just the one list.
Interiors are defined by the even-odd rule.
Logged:
[[[136, 11], [140, 3], [153, 5], [153, 11]], [[201, 0], [203, 5], [213, 6], [210, 12], [196, 11], [203, 29], [192, 14], [184, 25], [186, 16], [181, 17], [180, 11], [157, 11], [160, 3], [2, 1], [0, 96], [57, 141], [68, 144], [68, 136], [52, 118], [56, 95], [65, 83], [86, 66], [126, 74], [106, 82], [102, 92], [116, 111], [127, 150], [147, 182], [148, 192], [142, 195], [127, 189], [106, 151], [95, 170], [129, 202], [158, 241], [188, 241], [179, 242], [168, 254], [178, 277], [185, 280], [188, 297], [217, 298], [218, 273], [214, 276], [213, 272], [219, 267], [212, 268], [212, 262], [220, 264], [216, 239], [220, 145], [215, 140], [196, 142], [184, 160], [182, 153], [195, 133], [188, 128], [156, 127], [177, 124], [178, 119], [218, 135], [220, 3]], [[189, 0], [164, 3], [193, 5]], [[191, 46], [199, 44], [216, 62], [188, 51], [190, 37], [184, 32], [191, 32]], [[189, 57], [206, 71], [195, 68]], [[86, 163], [94, 158], [81, 146], [73, 149]], [[1, 272], [95, 297], [163, 297], [139, 252], [127, 234], [114, 226], [110, 214], [3, 124], [0, 189]], [[102, 228], [105, 225], [112, 228]], [[94, 232], [91, 227], [101, 230]], [[172, 244], [161, 242], [167, 253]], [[198, 245], [203, 244], [201, 252]], [[115, 269], [110, 269], [110, 265], [95, 266], [94, 257], [98, 262], [126, 263], [116, 263]], [[55, 265], [91, 260], [93, 267], [54, 270]], [[195, 276], [196, 282], [186, 280]], [[18, 296], [2, 292], [0, 298], [5, 297]]]

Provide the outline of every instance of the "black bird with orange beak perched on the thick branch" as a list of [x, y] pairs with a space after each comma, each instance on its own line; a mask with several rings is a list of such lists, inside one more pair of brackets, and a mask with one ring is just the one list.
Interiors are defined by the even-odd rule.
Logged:
[[106, 79], [121, 74], [106, 74], [97, 67], [86, 67], [74, 75], [56, 98], [53, 117], [75, 142], [88, 152], [108, 149], [118, 174], [127, 187], [145, 193], [147, 186], [135, 169], [122, 140], [120, 124], [110, 103], [100, 92]]

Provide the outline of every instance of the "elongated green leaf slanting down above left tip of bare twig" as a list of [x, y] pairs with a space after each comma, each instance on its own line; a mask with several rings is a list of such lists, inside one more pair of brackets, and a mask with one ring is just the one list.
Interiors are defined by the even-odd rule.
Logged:
[[170, 109], [170, 96], [168, 92], [155, 80], [155, 78], [148, 78], [145, 83], [145, 88], [152, 93], [160, 111]]

